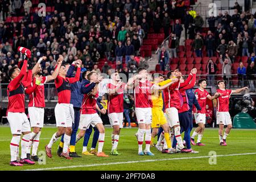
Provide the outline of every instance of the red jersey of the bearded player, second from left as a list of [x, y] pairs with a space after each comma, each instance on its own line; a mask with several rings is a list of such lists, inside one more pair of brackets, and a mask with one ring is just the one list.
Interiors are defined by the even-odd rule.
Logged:
[[[36, 87], [34, 92], [30, 94], [30, 101], [28, 102], [28, 107], [46, 107], [44, 102], [44, 84], [47, 81], [47, 77], [42, 77], [41, 84]], [[36, 78], [34, 77], [32, 83], [28, 88], [35, 85]]]

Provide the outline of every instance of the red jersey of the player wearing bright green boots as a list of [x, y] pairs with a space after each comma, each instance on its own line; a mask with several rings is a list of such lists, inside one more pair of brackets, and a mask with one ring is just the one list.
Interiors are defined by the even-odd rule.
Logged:
[[[117, 85], [112, 83], [108, 84], [108, 89], [113, 90], [117, 88]], [[108, 114], [110, 113], [123, 113], [123, 90], [125, 89], [125, 83], [115, 92], [115, 94], [109, 95], [108, 100]]]

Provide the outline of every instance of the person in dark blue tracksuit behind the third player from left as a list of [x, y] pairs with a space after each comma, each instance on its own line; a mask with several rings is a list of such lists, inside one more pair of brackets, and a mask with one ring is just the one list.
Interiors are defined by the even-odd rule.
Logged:
[[[73, 61], [71, 65], [68, 63], [65, 64], [65, 67], [69, 67], [67, 71], [67, 77], [74, 77], [73, 72], [76, 68], [76, 61]], [[81, 80], [81, 76], [80, 76]], [[74, 121], [72, 125], [72, 134], [71, 134], [71, 140], [70, 140], [70, 148], [69, 148], [69, 156], [72, 158], [80, 158], [81, 156], [76, 154], [75, 151], [75, 144], [76, 144], [76, 133], [77, 129], [79, 127], [79, 121], [80, 121], [80, 109], [82, 105], [82, 93], [81, 93], [81, 82], [77, 81], [73, 84], [71, 84], [71, 104], [73, 104], [74, 109]], [[64, 136], [64, 135], [63, 135]], [[61, 137], [59, 148], [57, 150], [57, 154], [60, 155], [63, 150], [63, 141], [64, 137]]]

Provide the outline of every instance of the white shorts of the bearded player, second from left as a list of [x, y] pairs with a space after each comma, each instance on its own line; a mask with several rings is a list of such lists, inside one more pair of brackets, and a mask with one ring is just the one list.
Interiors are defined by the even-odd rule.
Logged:
[[44, 108], [28, 107], [28, 115], [30, 115], [31, 127], [43, 127], [44, 126]]

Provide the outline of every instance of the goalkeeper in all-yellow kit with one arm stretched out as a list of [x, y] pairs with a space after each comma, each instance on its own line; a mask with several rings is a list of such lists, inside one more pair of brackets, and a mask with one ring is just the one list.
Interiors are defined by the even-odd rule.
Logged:
[[172, 78], [164, 81], [163, 75], [160, 73], [155, 73], [153, 76], [153, 86], [152, 86], [152, 133], [151, 133], [151, 146], [153, 146], [154, 138], [158, 134], [159, 127], [163, 127], [164, 130], [164, 139], [166, 139], [166, 144], [168, 147], [168, 153], [174, 154], [176, 150], [171, 147], [170, 140], [170, 127], [164, 117], [163, 113], [163, 98], [162, 98], [162, 90], [170, 86], [170, 84], [178, 81], [177, 78]]

